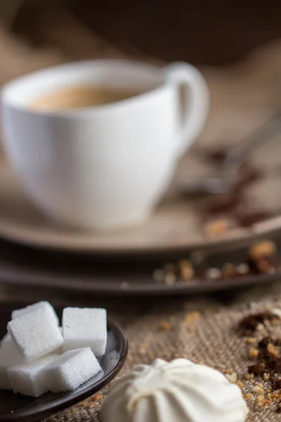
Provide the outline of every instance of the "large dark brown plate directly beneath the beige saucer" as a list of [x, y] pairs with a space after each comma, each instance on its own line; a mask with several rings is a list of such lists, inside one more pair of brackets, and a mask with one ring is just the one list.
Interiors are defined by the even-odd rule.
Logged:
[[[244, 261], [247, 248], [211, 252], [210, 267]], [[100, 295], [189, 295], [216, 292], [280, 279], [280, 274], [244, 276], [223, 281], [199, 279], [195, 283], [178, 281], [173, 286], [153, 279], [155, 268], [179, 256], [155, 255], [150, 260], [104, 260], [89, 255], [34, 250], [0, 241], [0, 281], [11, 288], [63, 289], [70, 293]], [[185, 257], [185, 255], [180, 255]]]

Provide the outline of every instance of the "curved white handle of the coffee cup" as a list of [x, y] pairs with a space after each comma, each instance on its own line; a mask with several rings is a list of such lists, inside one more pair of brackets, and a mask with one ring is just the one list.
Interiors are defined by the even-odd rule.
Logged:
[[178, 156], [197, 139], [209, 112], [209, 90], [199, 70], [184, 62], [176, 62], [164, 68], [166, 79], [178, 89], [186, 87], [183, 98], [183, 124], [178, 134]]

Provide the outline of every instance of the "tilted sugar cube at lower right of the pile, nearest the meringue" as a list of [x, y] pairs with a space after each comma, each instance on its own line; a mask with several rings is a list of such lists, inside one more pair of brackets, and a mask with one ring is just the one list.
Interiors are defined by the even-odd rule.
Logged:
[[100, 371], [90, 347], [69, 350], [48, 366], [48, 385], [52, 392], [75, 390]]

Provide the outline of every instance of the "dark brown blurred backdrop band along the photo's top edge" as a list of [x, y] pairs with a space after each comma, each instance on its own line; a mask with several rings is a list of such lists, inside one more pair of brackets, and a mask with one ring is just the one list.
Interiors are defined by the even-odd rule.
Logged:
[[225, 65], [281, 35], [277, 0], [1, 0], [1, 24], [65, 58], [102, 53], [104, 39], [128, 54]]

